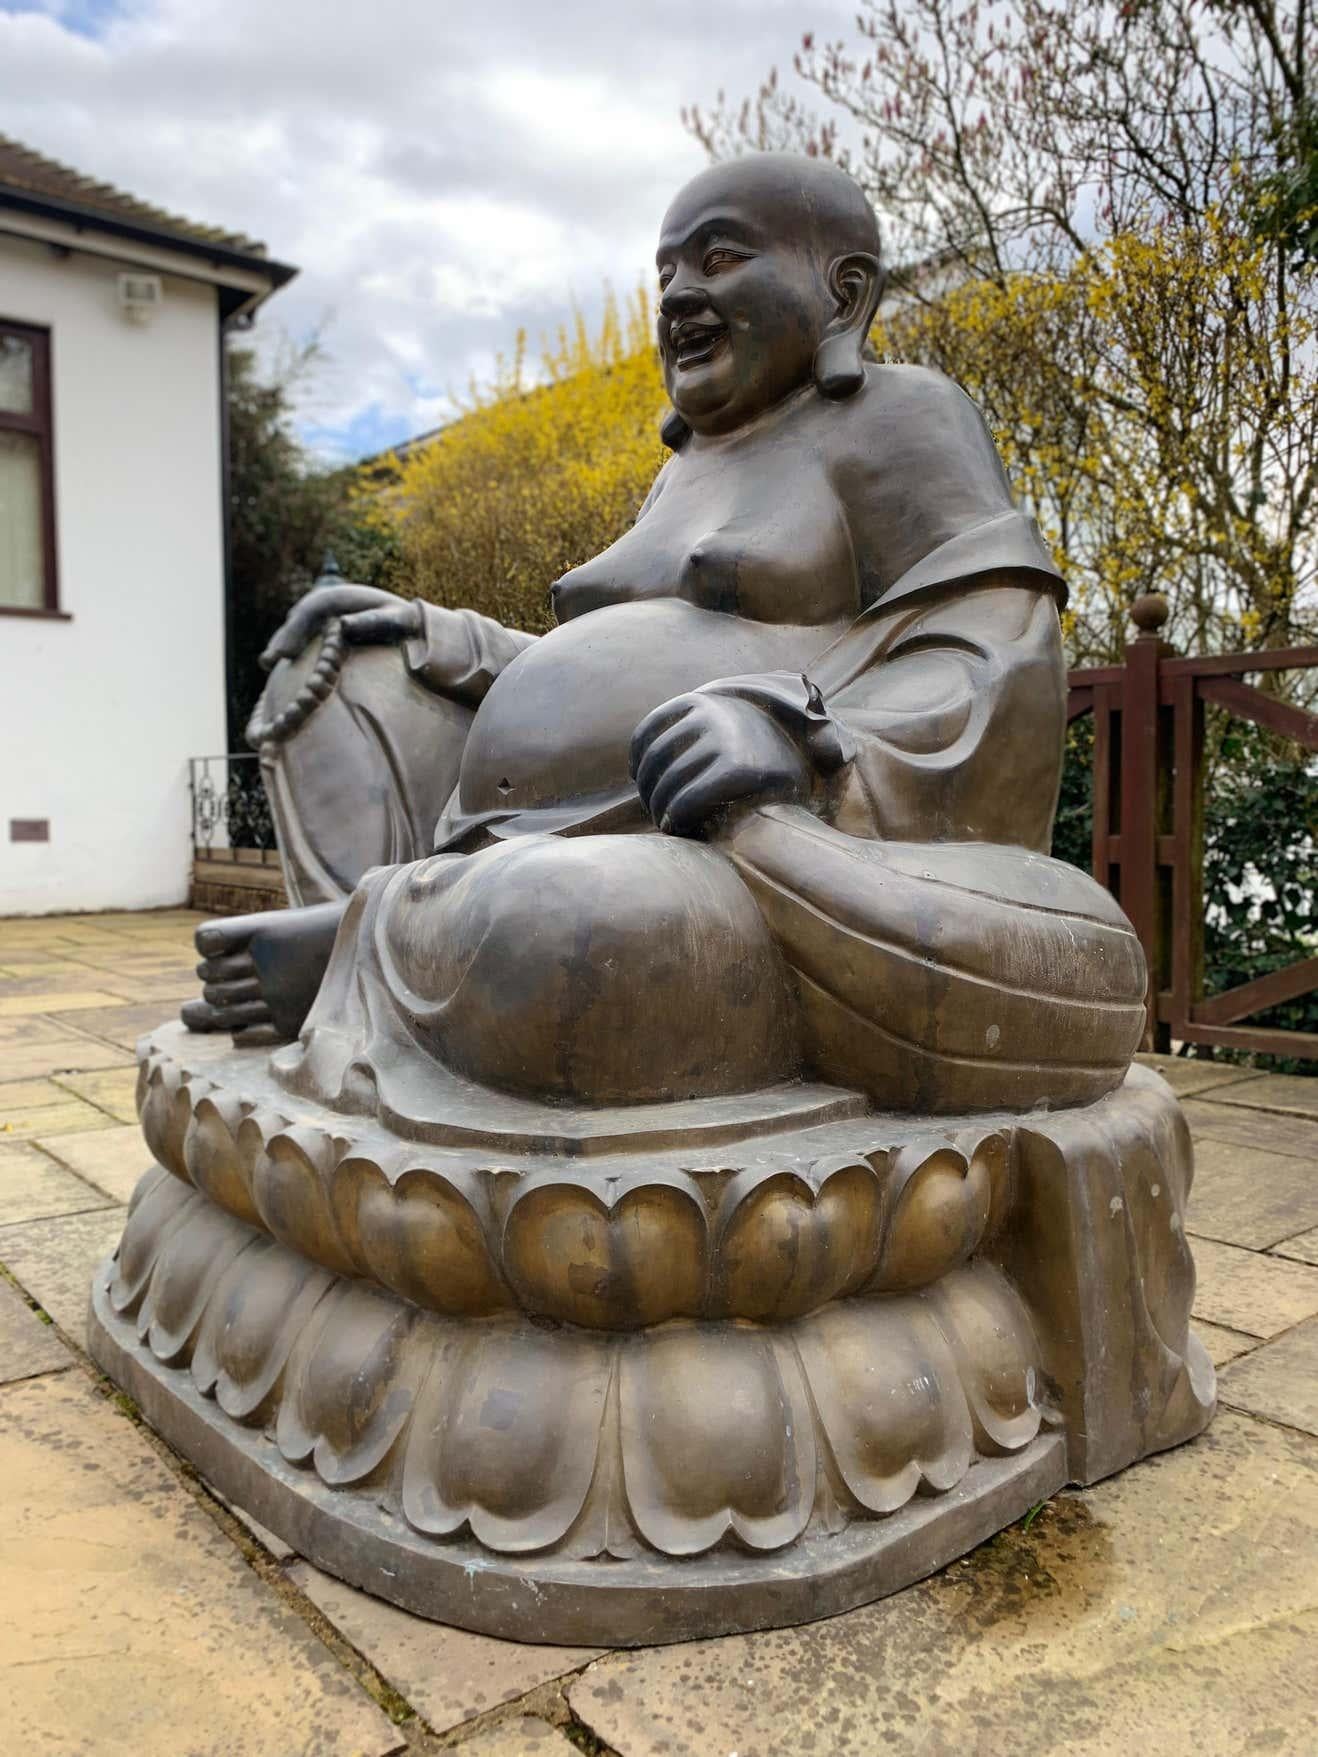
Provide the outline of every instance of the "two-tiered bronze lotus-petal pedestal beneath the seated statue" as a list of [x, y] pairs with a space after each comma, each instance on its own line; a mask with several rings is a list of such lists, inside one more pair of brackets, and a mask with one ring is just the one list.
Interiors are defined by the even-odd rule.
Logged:
[[805, 1622], [1199, 1432], [1176, 1100], [912, 1119], [794, 1088], [578, 1126], [290, 1098], [163, 1031], [91, 1353], [227, 1499], [424, 1616]]

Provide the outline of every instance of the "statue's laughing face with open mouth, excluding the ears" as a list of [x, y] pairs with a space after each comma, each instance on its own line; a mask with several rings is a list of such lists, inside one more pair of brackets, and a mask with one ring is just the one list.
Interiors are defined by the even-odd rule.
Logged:
[[698, 434], [731, 432], [808, 383], [836, 313], [812, 228], [749, 163], [689, 183], [659, 239], [664, 385]]

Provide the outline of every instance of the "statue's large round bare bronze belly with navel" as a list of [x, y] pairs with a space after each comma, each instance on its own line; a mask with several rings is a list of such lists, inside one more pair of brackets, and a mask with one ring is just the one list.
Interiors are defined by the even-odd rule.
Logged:
[[743, 622], [677, 597], [564, 622], [482, 703], [462, 756], [460, 806], [515, 812], [619, 791], [631, 734], [650, 708], [717, 676], [800, 671], [835, 633]]

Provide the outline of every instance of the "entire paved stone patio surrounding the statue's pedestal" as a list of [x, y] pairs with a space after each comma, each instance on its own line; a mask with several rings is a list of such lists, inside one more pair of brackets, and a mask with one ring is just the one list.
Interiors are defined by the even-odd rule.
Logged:
[[1163, 1063], [1221, 1369], [1202, 1439], [849, 1616], [517, 1646], [378, 1604], [235, 1518], [83, 1353], [91, 1267], [146, 1165], [132, 1045], [195, 991], [199, 919], [0, 921], [7, 1753], [1318, 1750], [1318, 1081]]

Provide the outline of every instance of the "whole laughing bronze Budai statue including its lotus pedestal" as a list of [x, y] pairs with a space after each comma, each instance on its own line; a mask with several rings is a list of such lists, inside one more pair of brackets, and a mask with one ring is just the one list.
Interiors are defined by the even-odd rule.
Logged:
[[1056, 568], [866, 364], [840, 170], [715, 167], [657, 260], [673, 455], [550, 634], [334, 585], [276, 638], [299, 907], [200, 931], [93, 1293], [223, 1493], [538, 1641], [844, 1609], [1213, 1407], [1141, 949], [1047, 856]]

